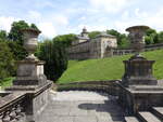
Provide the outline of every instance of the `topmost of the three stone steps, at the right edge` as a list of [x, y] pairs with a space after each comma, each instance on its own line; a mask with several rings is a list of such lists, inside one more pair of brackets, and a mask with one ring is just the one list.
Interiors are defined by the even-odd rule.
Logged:
[[163, 122], [163, 107], [152, 107], [151, 112]]

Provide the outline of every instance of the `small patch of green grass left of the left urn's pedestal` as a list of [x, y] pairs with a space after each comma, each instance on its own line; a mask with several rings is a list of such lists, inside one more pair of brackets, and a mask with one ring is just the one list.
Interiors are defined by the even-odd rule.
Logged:
[[12, 85], [12, 81], [14, 80], [13, 77], [11, 78], [5, 78], [3, 81], [1, 81], [0, 86], [3, 90], [7, 86], [11, 86]]

